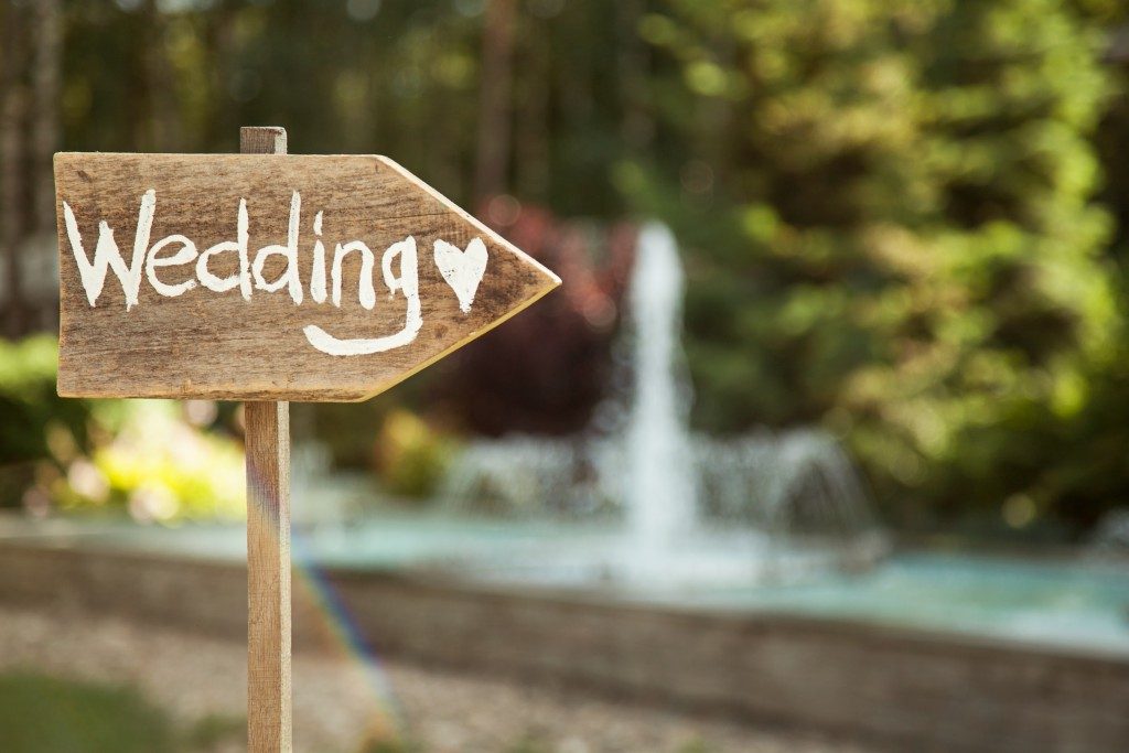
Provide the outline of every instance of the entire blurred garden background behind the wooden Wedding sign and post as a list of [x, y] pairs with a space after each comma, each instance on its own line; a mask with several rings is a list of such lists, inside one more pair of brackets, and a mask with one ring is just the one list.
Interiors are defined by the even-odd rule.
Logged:
[[0, 751], [245, 746], [242, 409], [55, 396], [51, 174], [240, 125], [563, 279], [291, 406], [298, 750], [1129, 750], [1121, 0], [0, 8]]

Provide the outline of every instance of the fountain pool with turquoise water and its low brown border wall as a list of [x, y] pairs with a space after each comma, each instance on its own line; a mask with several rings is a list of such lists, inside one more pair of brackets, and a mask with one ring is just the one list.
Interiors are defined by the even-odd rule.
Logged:
[[[522, 566], [606, 548], [607, 526], [380, 514], [296, 533], [299, 650], [343, 633], [382, 657], [892, 750], [1129, 744], [1124, 559], [907, 551], [802, 580], [684, 587]], [[0, 601], [243, 640], [244, 541], [242, 525], [0, 518]]]

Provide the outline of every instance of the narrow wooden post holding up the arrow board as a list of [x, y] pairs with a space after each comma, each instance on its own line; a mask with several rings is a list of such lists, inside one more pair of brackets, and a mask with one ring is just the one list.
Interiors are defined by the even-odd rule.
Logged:
[[[285, 155], [281, 128], [243, 128], [239, 151]], [[290, 403], [244, 403], [247, 453], [247, 750], [294, 750], [290, 717]]]

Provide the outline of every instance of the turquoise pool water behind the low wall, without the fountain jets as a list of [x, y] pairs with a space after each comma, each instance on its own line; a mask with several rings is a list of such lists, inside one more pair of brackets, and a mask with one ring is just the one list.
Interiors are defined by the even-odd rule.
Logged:
[[[60, 546], [170, 552], [242, 561], [242, 525], [141, 527], [124, 523], [0, 523], [5, 536]], [[772, 612], [955, 632], [1129, 656], [1129, 561], [1023, 559], [911, 551], [857, 573], [817, 572], [795, 583], [677, 588], [593, 583], [577, 566], [622, 549], [606, 529], [548, 523], [387, 516], [295, 533], [296, 559], [325, 567], [441, 573], [492, 587], [559, 589], [585, 598], [679, 608]], [[741, 550], [720, 552], [739, 558]]]

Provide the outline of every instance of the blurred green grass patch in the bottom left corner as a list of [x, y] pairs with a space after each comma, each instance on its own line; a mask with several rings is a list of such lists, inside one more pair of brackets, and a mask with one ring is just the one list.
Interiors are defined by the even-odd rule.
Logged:
[[130, 685], [0, 673], [3, 753], [187, 753], [244, 728], [242, 718], [207, 716], [181, 730]]

